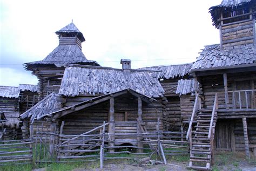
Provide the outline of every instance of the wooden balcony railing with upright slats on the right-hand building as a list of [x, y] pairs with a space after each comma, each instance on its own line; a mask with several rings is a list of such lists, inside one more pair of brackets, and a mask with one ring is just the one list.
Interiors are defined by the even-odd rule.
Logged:
[[[256, 90], [236, 90], [228, 91], [232, 94], [232, 108], [235, 110], [255, 109], [255, 92]], [[251, 97], [250, 97], [251, 96]]]

